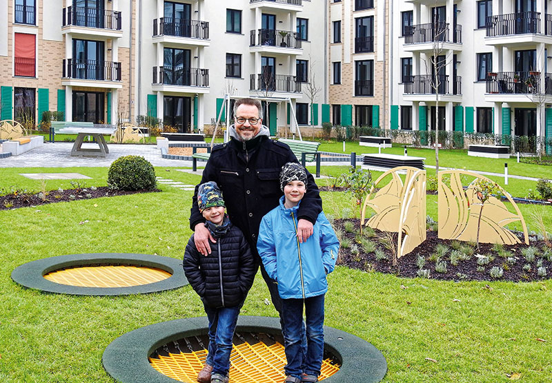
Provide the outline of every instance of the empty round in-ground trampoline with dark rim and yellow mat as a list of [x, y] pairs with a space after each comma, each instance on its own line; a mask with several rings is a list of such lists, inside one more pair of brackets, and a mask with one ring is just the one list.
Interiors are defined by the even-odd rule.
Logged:
[[49, 293], [118, 296], [177, 289], [188, 284], [182, 261], [131, 253], [88, 253], [28, 262], [12, 272], [24, 287]]

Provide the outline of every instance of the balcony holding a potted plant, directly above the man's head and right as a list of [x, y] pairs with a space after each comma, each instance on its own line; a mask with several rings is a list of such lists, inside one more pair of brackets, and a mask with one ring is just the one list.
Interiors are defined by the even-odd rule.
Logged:
[[302, 54], [302, 40], [297, 32], [259, 29], [250, 31], [250, 51], [284, 54]]

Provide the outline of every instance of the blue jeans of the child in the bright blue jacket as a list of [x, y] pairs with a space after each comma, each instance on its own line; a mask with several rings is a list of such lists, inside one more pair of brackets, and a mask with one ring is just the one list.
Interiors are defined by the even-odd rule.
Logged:
[[[303, 305], [306, 317], [306, 354], [302, 340]], [[320, 375], [324, 356], [324, 294], [306, 299], [282, 299], [286, 375]]]

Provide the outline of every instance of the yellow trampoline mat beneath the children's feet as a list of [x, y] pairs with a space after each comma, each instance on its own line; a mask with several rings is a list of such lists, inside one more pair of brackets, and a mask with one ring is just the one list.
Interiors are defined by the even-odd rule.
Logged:
[[[150, 364], [172, 379], [197, 383], [197, 373], [203, 368], [206, 358], [207, 350], [204, 349], [190, 353], [170, 353], [168, 356], [159, 355], [159, 358], [150, 358]], [[229, 383], [282, 383], [286, 377], [285, 365], [284, 346], [279, 342], [270, 346], [264, 342], [234, 344], [230, 354]], [[323, 360], [318, 380], [337, 373], [339, 367], [331, 359]]]

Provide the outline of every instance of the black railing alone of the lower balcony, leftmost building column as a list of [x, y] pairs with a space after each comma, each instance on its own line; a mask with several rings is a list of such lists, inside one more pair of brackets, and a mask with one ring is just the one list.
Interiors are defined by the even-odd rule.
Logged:
[[66, 79], [121, 81], [121, 63], [67, 59], [63, 60], [63, 77]]

